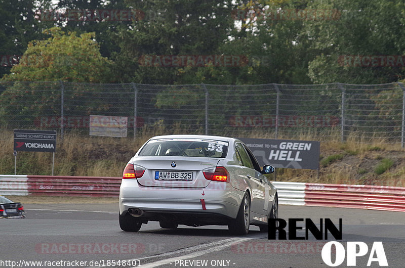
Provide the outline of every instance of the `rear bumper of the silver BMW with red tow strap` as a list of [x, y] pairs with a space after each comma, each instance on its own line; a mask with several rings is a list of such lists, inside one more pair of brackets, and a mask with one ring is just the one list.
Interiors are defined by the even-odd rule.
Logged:
[[143, 187], [136, 180], [126, 179], [119, 191], [119, 212], [139, 208], [153, 213], [218, 214], [236, 218], [243, 196], [244, 192], [223, 182], [211, 182], [203, 189], [158, 188]]

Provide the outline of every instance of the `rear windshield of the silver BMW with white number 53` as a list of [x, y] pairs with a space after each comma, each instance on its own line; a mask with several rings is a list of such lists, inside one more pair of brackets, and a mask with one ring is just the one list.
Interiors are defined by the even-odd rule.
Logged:
[[228, 143], [204, 139], [159, 139], [149, 141], [140, 156], [226, 157]]

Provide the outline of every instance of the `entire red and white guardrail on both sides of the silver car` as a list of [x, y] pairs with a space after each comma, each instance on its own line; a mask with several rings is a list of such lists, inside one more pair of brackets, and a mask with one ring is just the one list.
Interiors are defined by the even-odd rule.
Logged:
[[[118, 197], [121, 177], [0, 175], [2, 195]], [[279, 204], [405, 212], [405, 188], [273, 182]]]

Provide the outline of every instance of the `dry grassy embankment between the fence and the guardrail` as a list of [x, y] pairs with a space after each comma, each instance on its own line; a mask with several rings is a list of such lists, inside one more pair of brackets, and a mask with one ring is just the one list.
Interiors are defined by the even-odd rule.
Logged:
[[[156, 123], [152, 129], [141, 129], [142, 133], [134, 140], [129, 138], [109, 138], [86, 136], [77, 132], [65, 134], [64, 140], [58, 137], [55, 153], [55, 175], [82, 176], [121, 176], [128, 160], [150, 137], [168, 133], [203, 133], [177, 125], [168, 129]], [[221, 135], [221, 133], [216, 133]], [[278, 168], [275, 180], [290, 182], [312, 182], [330, 184], [369, 184], [405, 187], [404, 150], [398, 144], [388, 144], [384, 139], [366, 139], [350, 136], [340, 142], [338, 130], [316, 136], [311, 132], [296, 133], [297, 140], [319, 140], [321, 159], [341, 154], [327, 166], [317, 170]], [[254, 130], [227, 133], [223, 136], [274, 139], [275, 132]], [[279, 135], [279, 139], [288, 139]], [[375, 173], [375, 166], [384, 159], [392, 159], [393, 165], [382, 174]], [[319, 159], [319, 160], [321, 160]], [[42, 152], [18, 152], [17, 174], [51, 175], [52, 154]], [[0, 174], [14, 174], [13, 131], [0, 132]], [[270, 180], [272, 177], [270, 177]]]

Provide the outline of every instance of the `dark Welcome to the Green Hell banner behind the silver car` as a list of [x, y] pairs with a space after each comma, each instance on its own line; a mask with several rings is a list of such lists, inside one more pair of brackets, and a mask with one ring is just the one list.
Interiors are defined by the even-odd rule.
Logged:
[[238, 138], [255, 155], [260, 165], [274, 167], [318, 169], [320, 143], [272, 139]]

